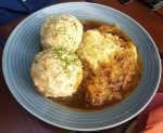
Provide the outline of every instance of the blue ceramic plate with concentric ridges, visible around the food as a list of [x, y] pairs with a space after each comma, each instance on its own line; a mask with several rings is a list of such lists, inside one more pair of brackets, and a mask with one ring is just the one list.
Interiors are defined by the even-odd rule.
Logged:
[[[137, 44], [143, 72], [136, 91], [120, 105], [100, 111], [76, 111], [52, 103], [35, 91], [29, 69], [40, 50], [40, 26], [48, 16], [72, 14], [78, 19], [118, 24]], [[25, 18], [9, 37], [2, 58], [7, 84], [17, 102], [35, 117], [55, 127], [75, 131], [97, 131], [122, 124], [149, 104], [161, 79], [161, 61], [149, 34], [133, 18], [109, 6], [88, 2], [55, 4]]]

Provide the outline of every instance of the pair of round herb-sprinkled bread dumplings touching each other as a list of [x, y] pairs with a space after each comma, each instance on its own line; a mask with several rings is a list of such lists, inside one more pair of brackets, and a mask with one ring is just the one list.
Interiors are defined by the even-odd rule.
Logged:
[[83, 66], [75, 54], [83, 37], [83, 25], [73, 15], [46, 18], [40, 29], [43, 48], [32, 65], [35, 88], [46, 97], [71, 96], [83, 79]]

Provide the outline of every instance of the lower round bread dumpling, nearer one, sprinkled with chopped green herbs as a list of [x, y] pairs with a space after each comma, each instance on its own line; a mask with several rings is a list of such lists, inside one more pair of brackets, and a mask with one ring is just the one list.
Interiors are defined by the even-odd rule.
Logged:
[[71, 96], [83, 79], [82, 63], [63, 48], [47, 49], [36, 55], [30, 77], [46, 97]]

